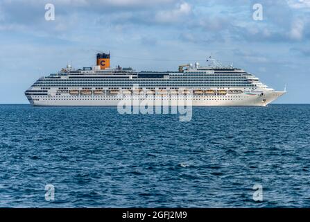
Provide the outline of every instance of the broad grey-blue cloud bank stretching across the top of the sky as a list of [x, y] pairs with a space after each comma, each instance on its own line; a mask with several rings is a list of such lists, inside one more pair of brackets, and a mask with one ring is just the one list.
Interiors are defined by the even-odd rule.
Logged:
[[[44, 4], [55, 4], [55, 21], [44, 20]], [[167, 36], [180, 41], [213, 42], [300, 42], [310, 36], [309, 16], [296, 4], [307, 1], [261, 0], [264, 20], [252, 19], [256, 1], [200, 0], [3, 0], [0, 3], [0, 31], [22, 31], [38, 36], [85, 40], [90, 33], [109, 36], [135, 35], [142, 44], [160, 42]], [[247, 5], [248, 4], [248, 5]], [[160, 35], [143, 38], [153, 28]], [[85, 31], [89, 34], [87, 34]], [[110, 32], [110, 33], [109, 33]], [[156, 33], [156, 32], [154, 32]], [[80, 37], [83, 35], [84, 37]], [[88, 35], [88, 36], [87, 36]], [[139, 36], [137, 36], [139, 35]], [[123, 39], [119, 37], [118, 39]]]

